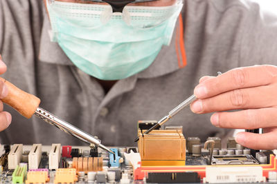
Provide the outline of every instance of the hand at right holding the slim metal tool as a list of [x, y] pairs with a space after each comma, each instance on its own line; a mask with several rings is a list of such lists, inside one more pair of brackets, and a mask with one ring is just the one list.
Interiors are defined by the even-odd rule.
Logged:
[[199, 82], [195, 88], [198, 100], [190, 105], [193, 112], [215, 112], [211, 123], [216, 127], [263, 128], [263, 134], [240, 132], [235, 141], [255, 150], [277, 148], [276, 66], [235, 68], [217, 77], [204, 76]]

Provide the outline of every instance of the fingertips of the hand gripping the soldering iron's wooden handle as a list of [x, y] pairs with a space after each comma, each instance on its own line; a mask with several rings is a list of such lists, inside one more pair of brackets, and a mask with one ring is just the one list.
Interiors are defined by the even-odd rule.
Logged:
[[[7, 70], [7, 66], [2, 61], [2, 57], [0, 55], [0, 74], [5, 73]], [[5, 98], [8, 95], [8, 88], [6, 85], [0, 81], [0, 99]], [[8, 112], [3, 111], [3, 102], [0, 101], [0, 131], [5, 130], [12, 121], [12, 116]]]

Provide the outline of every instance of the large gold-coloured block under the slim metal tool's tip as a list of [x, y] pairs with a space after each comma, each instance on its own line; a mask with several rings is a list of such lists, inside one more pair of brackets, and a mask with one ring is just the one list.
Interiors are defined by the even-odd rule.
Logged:
[[186, 164], [186, 139], [181, 130], [153, 130], [144, 136], [138, 133], [142, 166]]

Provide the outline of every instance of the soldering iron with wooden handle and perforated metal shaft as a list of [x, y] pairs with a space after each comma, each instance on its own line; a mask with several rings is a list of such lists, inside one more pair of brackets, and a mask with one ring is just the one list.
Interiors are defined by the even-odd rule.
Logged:
[[42, 108], [39, 108], [40, 99], [37, 98], [37, 96], [20, 90], [15, 85], [1, 77], [0, 81], [3, 82], [8, 88], [8, 95], [1, 99], [1, 101], [3, 101], [3, 103], [6, 103], [7, 105], [10, 105], [12, 108], [17, 110], [22, 116], [30, 119], [33, 116], [33, 114], [35, 114], [40, 118], [44, 119], [44, 121], [46, 121], [47, 123], [55, 125], [55, 127], [58, 127], [60, 128], [60, 130], [77, 137], [81, 141], [97, 145], [98, 147], [101, 147], [103, 150], [106, 150], [107, 152], [114, 154], [114, 152], [105, 147], [105, 145], [102, 145], [100, 140], [78, 129], [77, 127], [74, 127], [70, 123], [67, 123], [66, 121], [57, 118], [57, 116], [54, 116], [50, 112], [47, 112]]

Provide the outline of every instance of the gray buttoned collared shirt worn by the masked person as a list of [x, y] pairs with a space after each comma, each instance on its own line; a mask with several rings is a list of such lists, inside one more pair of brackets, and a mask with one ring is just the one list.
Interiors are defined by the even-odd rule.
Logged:
[[[198, 80], [232, 68], [277, 63], [277, 17], [256, 3], [238, 0], [185, 0], [182, 11], [185, 68], [179, 68], [175, 35], [149, 68], [118, 81], [105, 95], [93, 77], [78, 70], [48, 37], [42, 0], [0, 0], [0, 53], [8, 65], [3, 77], [38, 96], [40, 106], [105, 145], [136, 145], [137, 121], [158, 120], [193, 94]], [[176, 30], [179, 29], [177, 23]], [[178, 43], [177, 43], [178, 44]], [[57, 128], [15, 110], [1, 143], [81, 144]], [[186, 108], [168, 125], [183, 125], [184, 136], [227, 136], [213, 127], [211, 114]]]

